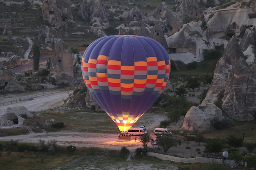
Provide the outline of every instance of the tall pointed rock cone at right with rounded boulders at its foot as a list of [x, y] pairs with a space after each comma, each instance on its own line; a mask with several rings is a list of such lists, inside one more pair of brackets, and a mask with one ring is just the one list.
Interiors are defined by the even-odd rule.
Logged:
[[[245, 36], [249, 37], [248, 34]], [[198, 126], [198, 124], [202, 125], [200, 116], [204, 115], [206, 121], [213, 119], [213, 117], [218, 117], [221, 121], [220, 109], [222, 115], [231, 119], [237, 121], [253, 120], [256, 109], [255, 79], [255, 62], [251, 65], [247, 63], [238, 40], [233, 36], [217, 62], [213, 80], [205, 99], [198, 108], [193, 107], [187, 112], [182, 128], [203, 130]], [[205, 111], [204, 108], [209, 104], [211, 104], [212, 109]], [[201, 115], [198, 116], [199, 112]], [[193, 125], [190, 122], [193, 122]], [[206, 127], [206, 130], [209, 128]]]

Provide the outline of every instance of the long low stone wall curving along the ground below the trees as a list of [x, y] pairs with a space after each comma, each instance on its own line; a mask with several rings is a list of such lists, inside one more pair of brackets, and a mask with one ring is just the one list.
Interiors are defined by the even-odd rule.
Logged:
[[157, 157], [158, 159], [162, 159], [165, 161], [173, 161], [179, 163], [204, 163], [204, 162], [212, 162], [215, 161], [217, 163], [222, 164], [222, 159], [213, 159], [213, 158], [204, 158], [204, 157], [195, 157], [195, 158], [180, 158], [180, 157], [173, 157], [170, 155], [163, 155], [154, 152], [147, 152], [148, 156], [150, 157]]

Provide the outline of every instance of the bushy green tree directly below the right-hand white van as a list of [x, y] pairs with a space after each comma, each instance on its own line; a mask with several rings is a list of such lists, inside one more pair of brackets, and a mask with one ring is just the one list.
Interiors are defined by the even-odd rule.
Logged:
[[157, 135], [157, 142], [159, 146], [164, 148], [164, 152], [167, 152], [169, 148], [178, 144], [177, 139], [172, 134]]

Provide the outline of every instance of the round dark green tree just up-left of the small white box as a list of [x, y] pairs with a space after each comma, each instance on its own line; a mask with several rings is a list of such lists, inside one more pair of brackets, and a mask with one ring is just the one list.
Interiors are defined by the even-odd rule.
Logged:
[[215, 153], [218, 154], [223, 151], [224, 144], [220, 139], [213, 138], [209, 139], [206, 144], [204, 144], [205, 153]]

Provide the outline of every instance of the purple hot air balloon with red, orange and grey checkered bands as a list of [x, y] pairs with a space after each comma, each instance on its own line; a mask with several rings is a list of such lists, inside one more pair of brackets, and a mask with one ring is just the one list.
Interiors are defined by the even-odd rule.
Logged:
[[121, 132], [148, 110], [164, 90], [171, 62], [164, 47], [135, 35], [110, 35], [92, 42], [81, 62], [83, 80]]

